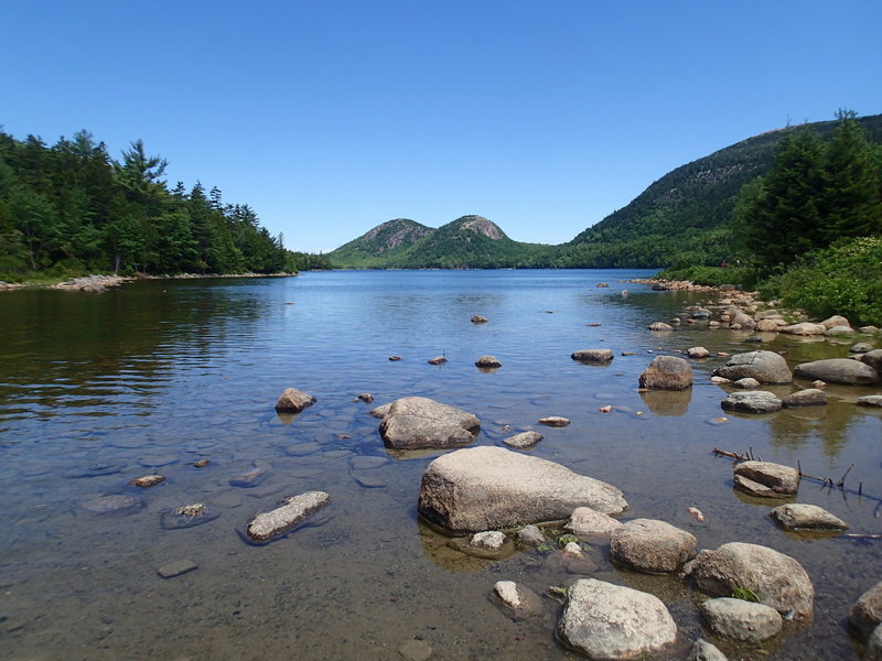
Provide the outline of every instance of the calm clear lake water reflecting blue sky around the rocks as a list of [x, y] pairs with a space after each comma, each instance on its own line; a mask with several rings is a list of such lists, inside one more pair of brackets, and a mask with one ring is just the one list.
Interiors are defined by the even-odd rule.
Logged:
[[[752, 448], [835, 480], [853, 464], [847, 486], [862, 481], [864, 497], [804, 481], [798, 500], [852, 532], [880, 533], [882, 416], [853, 405], [878, 390], [830, 387], [826, 408], [714, 424], [725, 391], [710, 373], [723, 359], [709, 358], [692, 361], [690, 391], [638, 392], [653, 355], [756, 348], [739, 332], [648, 332], [709, 301], [620, 282], [648, 274], [330, 272], [0, 293], [0, 658], [383, 660], [418, 639], [439, 660], [577, 659], [555, 639], [555, 602], [545, 620], [513, 622], [488, 594], [501, 579], [542, 593], [578, 576], [535, 551], [492, 562], [449, 549], [416, 511], [439, 453], [388, 454], [372, 407], [353, 401], [370, 392], [373, 405], [424, 395], [464, 408], [482, 421], [476, 444], [541, 431], [531, 454], [621, 488], [623, 520], [664, 519], [700, 548], [744, 541], [796, 557], [817, 590], [814, 621], [763, 649], [717, 641], [731, 659], [858, 659], [846, 618], [882, 578], [882, 542], [784, 533], [767, 516], [776, 503], [735, 492], [731, 460], [711, 451]], [[473, 314], [490, 323], [470, 323]], [[782, 336], [763, 348], [786, 351], [793, 367], [847, 356], [849, 344]], [[585, 348], [616, 357], [605, 367], [570, 359]], [[445, 365], [427, 364], [440, 354]], [[503, 367], [476, 369], [484, 354]], [[273, 410], [288, 387], [318, 399], [295, 420]], [[601, 413], [607, 404], [614, 411]], [[541, 427], [546, 415], [572, 424]], [[191, 465], [202, 458], [211, 464]], [[261, 484], [230, 486], [255, 468]], [[168, 479], [127, 486], [151, 473]], [[243, 540], [252, 514], [312, 489], [333, 501], [320, 525], [262, 546]], [[89, 510], [107, 495], [142, 507]], [[219, 516], [162, 527], [164, 511], [194, 502]], [[593, 542], [594, 577], [657, 595], [685, 639], [702, 635], [698, 592], [617, 568], [606, 551]], [[184, 559], [198, 568], [158, 575]]]

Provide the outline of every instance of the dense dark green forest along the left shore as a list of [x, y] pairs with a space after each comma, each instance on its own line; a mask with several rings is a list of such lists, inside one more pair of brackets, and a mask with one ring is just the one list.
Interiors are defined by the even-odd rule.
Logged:
[[330, 267], [287, 250], [247, 204], [196, 182], [169, 189], [138, 140], [110, 158], [79, 131], [52, 147], [0, 131], [0, 279], [103, 273], [272, 273]]

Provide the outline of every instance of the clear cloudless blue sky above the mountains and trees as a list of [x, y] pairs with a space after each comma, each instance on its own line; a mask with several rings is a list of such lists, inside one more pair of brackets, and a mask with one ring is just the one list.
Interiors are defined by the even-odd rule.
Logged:
[[880, 0], [7, 0], [0, 124], [140, 138], [295, 250], [481, 214], [559, 243], [770, 129], [882, 112]]

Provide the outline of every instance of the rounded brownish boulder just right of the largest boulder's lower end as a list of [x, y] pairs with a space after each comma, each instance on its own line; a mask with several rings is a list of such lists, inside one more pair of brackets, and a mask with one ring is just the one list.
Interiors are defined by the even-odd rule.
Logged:
[[610, 559], [649, 574], [667, 574], [696, 556], [695, 535], [654, 519], [634, 519], [610, 538]]

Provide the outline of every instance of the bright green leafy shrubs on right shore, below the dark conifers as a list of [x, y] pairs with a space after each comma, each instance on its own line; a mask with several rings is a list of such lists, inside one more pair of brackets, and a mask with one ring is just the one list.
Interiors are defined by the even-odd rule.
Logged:
[[882, 237], [840, 239], [810, 252], [771, 279], [766, 293], [818, 317], [841, 314], [856, 325], [882, 326]]

